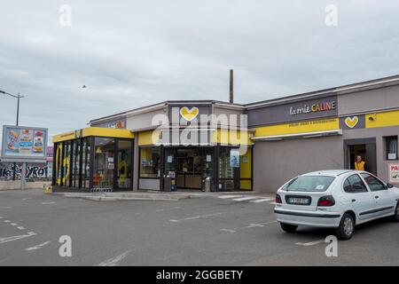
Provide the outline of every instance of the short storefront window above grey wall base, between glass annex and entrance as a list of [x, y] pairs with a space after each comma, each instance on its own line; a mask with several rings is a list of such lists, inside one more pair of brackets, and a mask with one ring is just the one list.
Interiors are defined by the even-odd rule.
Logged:
[[140, 148], [140, 177], [160, 177], [160, 148]]

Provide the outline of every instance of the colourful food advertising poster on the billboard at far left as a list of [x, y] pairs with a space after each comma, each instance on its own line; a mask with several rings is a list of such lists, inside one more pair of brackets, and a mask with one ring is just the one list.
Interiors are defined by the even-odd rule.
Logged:
[[45, 162], [48, 130], [25, 126], [3, 126], [3, 162]]

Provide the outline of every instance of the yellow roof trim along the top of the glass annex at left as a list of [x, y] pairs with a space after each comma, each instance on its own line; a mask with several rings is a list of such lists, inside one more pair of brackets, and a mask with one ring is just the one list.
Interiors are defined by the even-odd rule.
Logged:
[[54, 135], [54, 143], [73, 140], [75, 138], [84, 138], [89, 136], [109, 137], [109, 138], [135, 138], [130, 130], [115, 130], [113, 128], [88, 127], [82, 130], [73, 130], [59, 135]]

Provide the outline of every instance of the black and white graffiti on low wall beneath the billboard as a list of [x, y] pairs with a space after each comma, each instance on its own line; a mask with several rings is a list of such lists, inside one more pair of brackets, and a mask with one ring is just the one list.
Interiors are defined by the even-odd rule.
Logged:
[[[13, 163], [0, 163], [0, 178], [11, 179], [13, 176]], [[27, 164], [27, 178], [46, 178], [52, 176], [51, 163], [47, 164]], [[20, 178], [22, 171], [22, 164], [16, 164], [15, 177]]]

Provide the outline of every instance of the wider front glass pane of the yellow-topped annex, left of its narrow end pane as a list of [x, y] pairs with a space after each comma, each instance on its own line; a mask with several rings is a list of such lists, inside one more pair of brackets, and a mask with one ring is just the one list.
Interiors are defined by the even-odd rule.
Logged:
[[95, 138], [93, 174], [95, 188], [113, 188], [114, 147], [115, 139], [113, 138]]

